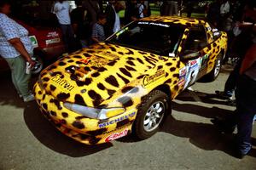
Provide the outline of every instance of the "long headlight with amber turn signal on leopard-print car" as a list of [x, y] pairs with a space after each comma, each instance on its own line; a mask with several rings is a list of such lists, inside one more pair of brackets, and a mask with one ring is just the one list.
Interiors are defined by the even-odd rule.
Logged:
[[125, 112], [124, 108], [95, 109], [92, 107], [71, 103], [64, 103], [64, 106], [71, 111], [75, 111], [84, 116], [88, 116], [89, 118], [100, 120], [108, 119], [110, 117], [117, 116]]

